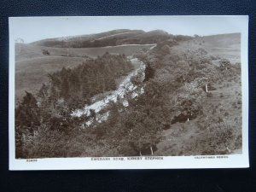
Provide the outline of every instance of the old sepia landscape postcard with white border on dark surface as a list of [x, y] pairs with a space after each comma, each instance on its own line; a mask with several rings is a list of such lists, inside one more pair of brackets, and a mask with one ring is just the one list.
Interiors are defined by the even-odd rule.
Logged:
[[248, 167], [248, 17], [9, 18], [9, 169]]

